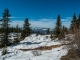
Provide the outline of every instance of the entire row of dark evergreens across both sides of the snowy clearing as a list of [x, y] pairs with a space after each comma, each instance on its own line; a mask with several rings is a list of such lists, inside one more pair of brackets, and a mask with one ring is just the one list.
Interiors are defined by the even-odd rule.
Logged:
[[[32, 29], [30, 28], [30, 23], [29, 23], [28, 18], [26, 18], [24, 20], [23, 28], [20, 28], [18, 26], [18, 24], [16, 25], [16, 27], [10, 27], [9, 22], [11, 22], [11, 20], [9, 17], [11, 17], [11, 15], [9, 14], [9, 10], [5, 9], [3, 12], [2, 18], [0, 19], [0, 22], [1, 22], [1, 24], [0, 24], [0, 26], [1, 26], [0, 39], [1, 39], [1, 42], [3, 45], [4, 44], [9, 45], [8, 35], [11, 32], [17, 33], [17, 37], [18, 37], [18, 33], [21, 33], [20, 39], [24, 39], [25, 37], [27, 37], [33, 33]], [[76, 18], [76, 14], [74, 13], [74, 15], [72, 17], [70, 28], [62, 26], [61, 16], [59, 14], [57, 17], [57, 20], [56, 20], [56, 26], [54, 28], [54, 31], [53, 31], [53, 33], [51, 33], [51, 39], [53, 39], [53, 38], [62, 39], [65, 37], [65, 34], [74, 33], [75, 30], [77, 30], [79, 28], [80, 28], [80, 14], [79, 14], [79, 17]], [[40, 33], [39, 31], [36, 31], [36, 36], [38, 34], [42, 34], [42, 33]], [[49, 28], [46, 30], [46, 34], [50, 34]], [[16, 39], [16, 40], [20, 40], [20, 39]]]

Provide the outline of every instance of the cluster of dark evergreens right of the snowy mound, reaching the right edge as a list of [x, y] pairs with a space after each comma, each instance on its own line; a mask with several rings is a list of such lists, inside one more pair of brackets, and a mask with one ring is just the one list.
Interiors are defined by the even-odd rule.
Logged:
[[72, 21], [69, 28], [65, 27], [64, 25], [62, 26], [61, 16], [60, 14], [58, 14], [56, 20], [56, 26], [54, 28], [53, 33], [51, 34], [51, 39], [54, 38], [62, 39], [65, 37], [66, 34], [74, 34], [75, 31], [79, 29], [80, 29], [80, 14], [78, 18], [76, 17], [75, 13], [73, 14]]

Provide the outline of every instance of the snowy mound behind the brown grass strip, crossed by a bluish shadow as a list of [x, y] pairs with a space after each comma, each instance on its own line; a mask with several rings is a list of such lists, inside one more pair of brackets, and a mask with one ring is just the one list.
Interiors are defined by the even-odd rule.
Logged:
[[51, 45], [61, 44], [60, 42], [54, 42], [54, 40], [51, 41], [49, 37], [50, 36], [48, 36], [48, 39], [46, 39], [46, 35], [36, 36], [34, 34], [29, 37], [26, 37], [23, 41], [20, 42], [20, 44], [15, 46], [15, 48], [29, 49], [29, 48], [37, 48], [37, 47], [42, 47], [42, 46], [51, 46]]

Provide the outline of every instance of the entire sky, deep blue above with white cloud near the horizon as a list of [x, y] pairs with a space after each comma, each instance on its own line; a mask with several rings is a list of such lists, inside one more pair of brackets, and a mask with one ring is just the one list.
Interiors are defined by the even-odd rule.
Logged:
[[10, 10], [12, 26], [22, 26], [29, 18], [32, 27], [52, 28], [60, 14], [63, 25], [69, 27], [73, 14], [80, 13], [80, 0], [0, 0], [0, 17], [5, 8]]

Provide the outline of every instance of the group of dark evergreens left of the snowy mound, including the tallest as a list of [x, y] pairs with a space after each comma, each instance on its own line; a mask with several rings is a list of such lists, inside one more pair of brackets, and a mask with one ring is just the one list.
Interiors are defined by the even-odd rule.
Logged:
[[[16, 27], [10, 27], [9, 10], [6, 8], [3, 12], [2, 18], [0, 19], [0, 47], [11, 45], [12, 43], [9, 40], [10, 33], [16, 33], [17, 38], [14, 40], [15, 43], [18, 43], [21, 39], [24, 39], [26, 36], [29, 36], [31, 33], [30, 23], [28, 22], [28, 18], [25, 19], [23, 28], [19, 28], [18, 24]], [[18, 33], [21, 33], [21, 38], [19, 39]]]

